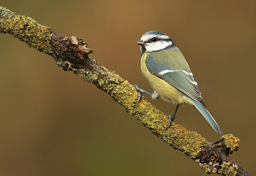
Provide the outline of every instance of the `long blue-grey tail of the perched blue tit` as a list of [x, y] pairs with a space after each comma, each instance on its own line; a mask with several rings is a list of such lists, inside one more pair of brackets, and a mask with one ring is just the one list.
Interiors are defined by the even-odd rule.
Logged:
[[208, 110], [200, 105], [200, 103], [196, 102], [195, 100], [191, 99], [193, 104], [196, 106], [196, 108], [199, 110], [199, 112], [204, 115], [204, 118], [209, 122], [209, 124], [212, 126], [212, 128], [216, 131], [216, 133], [223, 134], [223, 131], [218, 126], [217, 122], [213, 119], [212, 115], [208, 112]]

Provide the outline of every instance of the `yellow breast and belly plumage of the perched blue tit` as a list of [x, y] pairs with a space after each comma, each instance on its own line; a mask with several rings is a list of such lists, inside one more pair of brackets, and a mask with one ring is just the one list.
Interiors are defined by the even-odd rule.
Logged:
[[146, 59], [149, 53], [145, 53], [141, 57], [141, 72], [142, 75], [148, 80], [150, 86], [154, 91], [159, 92], [160, 97], [169, 103], [173, 103], [175, 105], [178, 104], [193, 104], [192, 101], [178, 89], [168, 84], [165, 80], [156, 77], [150, 73], [146, 66]]

